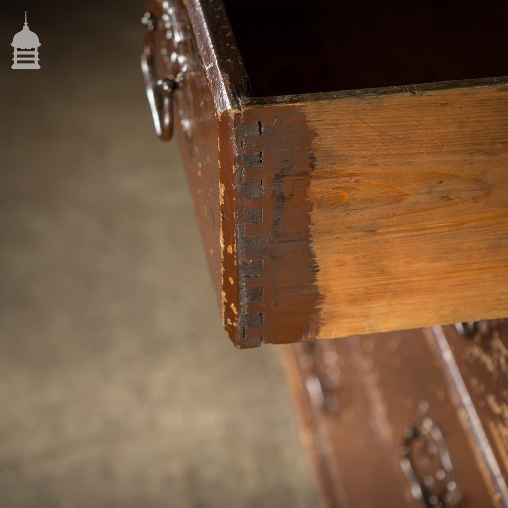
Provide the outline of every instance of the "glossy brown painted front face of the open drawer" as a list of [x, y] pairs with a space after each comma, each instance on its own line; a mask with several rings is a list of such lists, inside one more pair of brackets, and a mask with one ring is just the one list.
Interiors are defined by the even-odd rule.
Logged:
[[[170, 113], [215, 295], [220, 303], [218, 121], [214, 99], [183, 2], [148, 0], [146, 10], [143, 53], [152, 60], [151, 80], [155, 92], [159, 91], [158, 80], [171, 80], [177, 72], [182, 75], [172, 92]], [[175, 60], [178, 60], [177, 65]]]

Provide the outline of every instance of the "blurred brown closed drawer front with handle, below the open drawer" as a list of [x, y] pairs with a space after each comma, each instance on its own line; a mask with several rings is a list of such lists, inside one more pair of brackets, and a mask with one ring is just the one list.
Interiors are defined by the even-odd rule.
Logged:
[[329, 505], [503, 505], [431, 335], [413, 330], [292, 348], [288, 378]]

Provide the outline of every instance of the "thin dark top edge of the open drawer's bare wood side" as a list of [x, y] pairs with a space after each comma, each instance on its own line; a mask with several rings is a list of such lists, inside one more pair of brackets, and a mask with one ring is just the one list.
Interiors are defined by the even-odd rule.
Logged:
[[361, 88], [358, 90], [341, 90], [336, 92], [303, 93], [273, 97], [248, 97], [243, 102], [245, 107], [276, 106], [288, 104], [305, 104], [320, 101], [339, 101], [343, 99], [379, 97], [396, 93], [419, 95], [423, 92], [446, 90], [448, 88], [469, 88], [508, 83], [508, 76], [481, 79], [463, 79], [455, 81], [438, 81], [414, 85], [388, 86], [385, 88]]

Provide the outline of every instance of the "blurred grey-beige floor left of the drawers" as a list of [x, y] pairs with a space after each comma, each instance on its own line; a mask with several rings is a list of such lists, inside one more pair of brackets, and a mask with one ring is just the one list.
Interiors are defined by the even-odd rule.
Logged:
[[42, 68], [13, 71], [24, 8], [0, 21], [0, 507], [315, 506], [277, 348], [229, 343], [152, 132], [142, 2], [28, 2]]

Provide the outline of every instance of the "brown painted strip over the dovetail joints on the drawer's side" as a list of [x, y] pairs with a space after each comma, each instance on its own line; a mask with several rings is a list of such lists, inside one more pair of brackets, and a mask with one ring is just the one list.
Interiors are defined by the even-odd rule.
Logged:
[[[245, 345], [308, 339], [319, 323], [320, 300], [309, 244], [312, 203], [307, 200], [314, 133], [303, 112], [292, 107], [246, 110], [242, 120], [237, 237], [244, 261], [244, 337], [239, 339]], [[251, 263], [261, 271], [250, 273]]]

